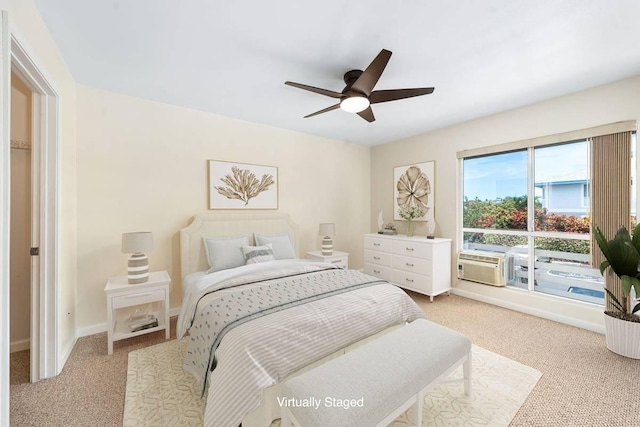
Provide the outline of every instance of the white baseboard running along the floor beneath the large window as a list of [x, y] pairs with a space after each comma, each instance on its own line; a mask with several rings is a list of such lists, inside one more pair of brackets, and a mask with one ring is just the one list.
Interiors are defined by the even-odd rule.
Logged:
[[[466, 283], [469, 283], [469, 282], [466, 282]], [[478, 286], [487, 287], [488, 285], [478, 284]], [[489, 286], [489, 288], [491, 287]], [[591, 322], [585, 319], [578, 319], [566, 314], [558, 313], [557, 311], [537, 307], [537, 305], [543, 305], [543, 306], [545, 305], [545, 300], [548, 299], [548, 298], [545, 298], [546, 297], [545, 295], [537, 295], [533, 292], [522, 291], [522, 292], [526, 292], [526, 298], [530, 299], [530, 301], [532, 302], [531, 306], [529, 306], [529, 305], [524, 305], [520, 302], [514, 301], [513, 299], [510, 300], [509, 298], [511, 296], [510, 293], [517, 292], [516, 290], [508, 289], [508, 288], [491, 288], [491, 291], [500, 292], [503, 295], [501, 298], [497, 298], [495, 295], [486, 295], [480, 292], [474, 292], [467, 289], [460, 289], [455, 287], [451, 289], [451, 293], [454, 295], [459, 295], [461, 297], [473, 299], [480, 302], [485, 302], [487, 304], [508, 308], [509, 310], [518, 311], [520, 313], [530, 314], [532, 316], [542, 317], [543, 319], [564, 323], [565, 325], [575, 326], [577, 328], [587, 329], [589, 331], [597, 332], [599, 334], [604, 334], [604, 318], [603, 318], [604, 308], [602, 307], [585, 305], [584, 307], [579, 308], [581, 310], [584, 310], [588, 314], [594, 314], [594, 312], [596, 316], [598, 316], [598, 313], [600, 314], [600, 318], [602, 319], [600, 323]], [[521, 292], [517, 292], [517, 293], [520, 294]], [[521, 296], [521, 295], [516, 295], [516, 296]], [[558, 305], [562, 305], [564, 303], [563, 301], [558, 301], [557, 298], [554, 298], [554, 297], [549, 297], [549, 298], [552, 298], [552, 301], [557, 303]], [[576, 309], [576, 305], [573, 302], [567, 301], [566, 304], [568, 305], [568, 307], [572, 309]]]

